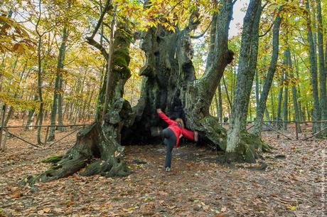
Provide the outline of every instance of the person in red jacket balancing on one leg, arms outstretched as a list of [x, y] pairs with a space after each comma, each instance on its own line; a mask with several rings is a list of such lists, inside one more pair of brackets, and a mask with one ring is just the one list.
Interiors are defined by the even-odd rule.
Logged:
[[171, 151], [173, 147], [178, 147], [179, 139], [181, 139], [182, 136], [197, 142], [198, 132], [185, 129], [181, 118], [172, 118], [175, 119], [172, 120], [167, 117], [161, 109], [157, 109], [156, 112], [159, 117], [168, 124], [168, 127], [161, 132], [161, 135], [164, 137], [164, 144], [166, 145], [165, 170], [171, 171]]

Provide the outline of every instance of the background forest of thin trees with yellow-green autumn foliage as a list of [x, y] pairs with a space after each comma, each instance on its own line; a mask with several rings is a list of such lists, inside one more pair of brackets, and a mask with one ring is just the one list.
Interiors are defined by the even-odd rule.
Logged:
[[[0, 97], [1, 104], [6, 105], [4, 125], [17, 118], [26, 126], [45, 122], [75, 124], [94, 119], [105, 61], [85, 38], [92, 33], [103, 4], [102, 1], [1, 2]], [[158, 1], [151, 9], [143, 9], [141, 1], [117, 1], [116, 4], [117, 18], [129, 16], [135, 33], [158, 24], [174, 31], [173, 26], [156, 16], [174, 11], [178, 14], [174, 19], [183, 25], [189, 9], [194, 6], [192, 1]], [[195, 74], [200, 78], [209, 51], [208, 28], [214, 8], [210, 8], [213, 4], [210, 1], [197, 1], [196, 4], [201, 10], [200, 28], [191, 34], [202, 36], [193, 39], [193, 63]], [[248, 121], [256, 117], [263, 88], [269, 88], [264, 87], [264, 80], [274, 49], [272, 26], [277, 15], [282, 17], [280, 55], [267, 96], [264, 120], [296, 120], [297, 116], [299, 120], [326, 120], [326, 100], [323, 100], [323, 95], [326, 98], [323, 92], [326, 90], [326, 73], [323, 72], [326, 2], [310, 1], [308, 4], [309, 9], [306, 9], [305, 1], [272, 1], [264, 7]], [[171, 14], [166, 16], [167, 20], [171, 19]], [[103, 25], [109, 26], [111, 20], [110, 16], [106, 17]], [[104, 48], [109, 46], [110, 34], [106, 29], [108, 31], [102, 26], [97, 35]], [[240, 38], [241, 34], [229, 38], [235, 60], [227, 65], [210, 106], [210, 113], [221, 122], [223, 117], [230, 117], [235, 97]], [[145, 63], [139, 40], [132, 42], [130, 56], [132, 76], [125, 85], [124, 98], [136, 105], [141, 87], [139, 70]]]

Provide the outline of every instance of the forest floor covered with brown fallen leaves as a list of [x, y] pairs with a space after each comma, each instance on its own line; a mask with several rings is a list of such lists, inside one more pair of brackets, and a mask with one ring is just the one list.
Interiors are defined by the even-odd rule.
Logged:
[[[35, 130], [16, 134], [36, 136]], [[0, 216], [327, 216], [327, 141], [274, 132], [263, 139], [286, 157], [264, 154], [268, 166], [261, 171], [216, 164], [216, 152], [182, 144], [165, 172], [163, 145], [136, 145], [125, 149], [133, 171], [127, 177], [75, 174], [21, 189], [17, 181], [48, 169], [41, 161], [64, 154], [75, 134], [43, 149], [11, 138], [0, 154]]]

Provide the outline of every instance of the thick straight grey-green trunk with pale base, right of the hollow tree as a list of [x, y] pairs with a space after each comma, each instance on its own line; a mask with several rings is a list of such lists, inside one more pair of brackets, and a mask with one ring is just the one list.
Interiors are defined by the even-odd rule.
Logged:
[[[232, 105], [230, 129], [227, 135], [227, 161], [239, 157], [235, 154], [240, 147], [241, 132], [245, 131], [247, 108], [257, 65], [257, 51], [259, 43], [259, 20], [262, 12], [260, 0], [251, 0], [243, 21], [243, 32], [239, 67], [237, 73], [236, 92]], [[252, 162], [254, 162], [252, 157]]]

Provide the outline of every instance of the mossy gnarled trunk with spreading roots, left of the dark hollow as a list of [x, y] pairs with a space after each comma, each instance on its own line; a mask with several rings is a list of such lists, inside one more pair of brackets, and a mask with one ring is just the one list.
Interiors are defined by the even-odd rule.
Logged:
[[[111, 99], [103, 122], [92, 125], [77, 134], [77, 142], [57, 164], [38, 176], [28, 176], [21, 184], [34, 184], [38, 181], [51, 181], [69, 176], [87, 166], [82, 176], [100, 174], [102, 176], [123, 176], [129, 169], [122, 162], [124, 148], [121, 143], [122, 127], [129, 127], [134, 121], [129, 102], [122, 98], [124, 84], [130, 77], [129, 45], [131, 34], [127, 24], [118, 26], [114, 35], [114, 51], [112, 58]], [[105, 53], [103, 53], [105, 54]], [[106, 58], [107, 60], [107, 58]], [[104, 85], [105, 87], [105, 79]], [[102, 90], [104, 92], [105, 90]], [[97, 159], [97, 160], [94, 160]]]

